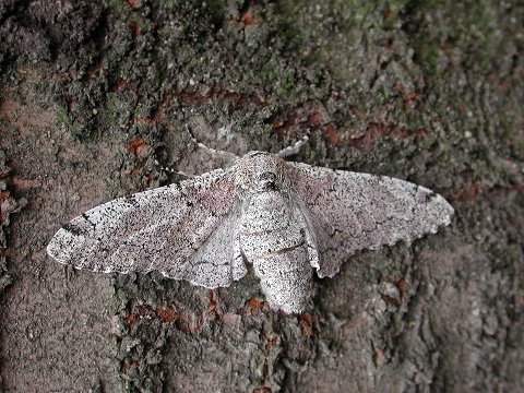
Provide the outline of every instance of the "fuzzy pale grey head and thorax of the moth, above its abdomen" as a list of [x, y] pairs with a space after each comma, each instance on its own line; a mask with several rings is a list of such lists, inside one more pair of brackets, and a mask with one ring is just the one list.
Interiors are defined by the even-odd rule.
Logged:
[[236, 186], [245, 196], [290, 188], [286, 163], [275, 154], [250, 152], [237, 162]]

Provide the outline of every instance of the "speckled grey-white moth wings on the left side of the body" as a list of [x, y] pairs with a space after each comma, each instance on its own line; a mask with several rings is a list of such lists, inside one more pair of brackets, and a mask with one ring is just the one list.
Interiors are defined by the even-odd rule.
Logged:
[[[95, 272], [156, 270], [210, 288], [227, 286], [235, 237], [223, 233], [234, 230], [235, 205], [231, 174], [217, 169], [94, 207], [58, 230], [47, 253]], [[192, 267], [212, 257], [217, 271]]]

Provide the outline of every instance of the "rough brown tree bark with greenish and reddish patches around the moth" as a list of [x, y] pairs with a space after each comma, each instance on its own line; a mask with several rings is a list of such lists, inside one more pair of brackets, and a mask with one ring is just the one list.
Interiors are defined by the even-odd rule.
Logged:
[[[524, 385], [520, 1], [0, 1], [3, 392], [477, 392]], [[45, 247], [118, 195], [276, 152], [406, 179], [436, 236], [347, 261], [307, 312], [64, 270]], [[160, 165], [157, 165], [158, 162]], [[11, 215], [10, 215], [11, 214]]]

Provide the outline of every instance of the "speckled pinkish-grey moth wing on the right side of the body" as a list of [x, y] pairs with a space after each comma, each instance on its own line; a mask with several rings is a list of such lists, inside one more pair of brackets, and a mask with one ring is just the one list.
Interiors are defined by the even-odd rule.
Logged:
[[453, 207], [431, 190], [385, 176], [288, 163], [320, 277], [332, 277], [355, 252], [410, 242], [449, 225]]

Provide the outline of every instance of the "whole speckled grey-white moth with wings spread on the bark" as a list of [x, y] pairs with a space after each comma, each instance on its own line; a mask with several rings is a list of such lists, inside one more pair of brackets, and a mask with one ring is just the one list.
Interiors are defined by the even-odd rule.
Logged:
[[452, 215], [425, 187], [250, 152], [229, 168], [94, 207], [58, 230], [47, 253], [206, 288], [229, 286], [251, 265], [271, 308], [297, 313], [314, 295], [313, 272], [333, 277], [357, 251], [434, 234]]

